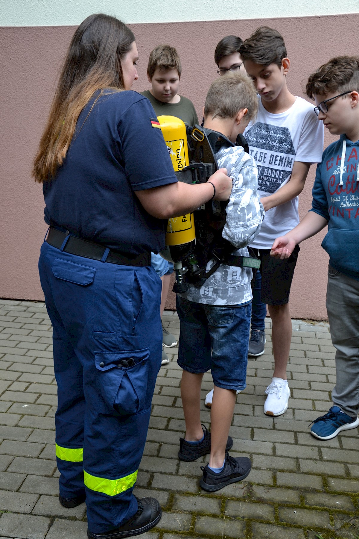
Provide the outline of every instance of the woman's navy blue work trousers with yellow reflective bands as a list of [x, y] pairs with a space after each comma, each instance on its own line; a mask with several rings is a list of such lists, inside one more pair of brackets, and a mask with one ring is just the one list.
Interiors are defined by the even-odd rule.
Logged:
[[39, 272], [53, 326], [60, 494], [85, 488], [89, 530], [110, 531], [137, 511], [132, 490], [161, 365], [161, 282], [151, 266], [91, 260], [46, 242]]

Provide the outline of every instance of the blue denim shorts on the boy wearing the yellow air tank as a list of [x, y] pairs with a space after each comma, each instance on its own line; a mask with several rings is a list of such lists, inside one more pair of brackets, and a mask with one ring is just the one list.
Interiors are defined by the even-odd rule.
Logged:
[[194, 374], [212, 371], [218, 388], [243, 390], [251, 303], [206, 305], [177, 296], [180, 319], [179, 366]]

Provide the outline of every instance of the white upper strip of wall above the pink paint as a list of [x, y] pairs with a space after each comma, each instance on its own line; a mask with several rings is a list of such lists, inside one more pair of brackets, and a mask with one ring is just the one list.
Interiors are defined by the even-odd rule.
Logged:
[[0, 26], [72, 26], [91, 13], [107, 13], [125, 23], [306, 17], [357, 13], [358, 0], [2, 0]]

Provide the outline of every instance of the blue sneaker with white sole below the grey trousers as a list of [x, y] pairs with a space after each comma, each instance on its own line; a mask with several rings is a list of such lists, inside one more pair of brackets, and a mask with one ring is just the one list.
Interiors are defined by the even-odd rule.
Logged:
[[340, 431], [355, 429], [359, 425], [358, 417], [347, 416], [340, 411], [339, 406], [332, 406], [325, 416], [317, 417], [312, 421], [311, 434], [320, 440], [335, 438]]

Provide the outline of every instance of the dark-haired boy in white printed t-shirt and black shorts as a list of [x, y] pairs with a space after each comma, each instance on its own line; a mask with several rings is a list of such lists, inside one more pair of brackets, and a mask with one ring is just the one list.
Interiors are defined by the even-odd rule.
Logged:
[[[266, 389], [264, 413], [280, 416], [288, 407], [286, 367], [292, 337], [289, 293], [299, 246], [290, 258], [270, 257], [274, 239], [299, 223], [298, 195], [312, 163], [320, 163], [323, 125], [314, 106], [290, 93], [290, 67], [283, 37], [267, 26], [258, 28], [240, 47], [244, 67], [258, 91], [259, 112], [245, 130], [250, 155], [258, 166], [258, 190], [265, 210], [261, 231], [251, 243], [262, 260], [252, 303], [249, 355], [264, 353], [266, 305], [272, 319], [274, 373]], [[262, 284], [259, 279], [262, 277]], [[259, 290], [258, 290], [259, 288]], [[258, 292], [261, 291], [261, 296]]]

